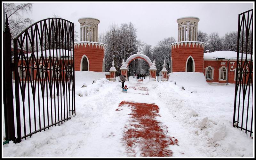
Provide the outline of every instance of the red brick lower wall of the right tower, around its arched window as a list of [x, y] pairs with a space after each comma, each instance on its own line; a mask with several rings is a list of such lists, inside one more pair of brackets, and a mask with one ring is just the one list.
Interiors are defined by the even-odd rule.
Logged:
[[186, 62], [189, 56], [195, 61], [195, 72], [203, 72], [204, 49], [191, 44], [184, 44], [172, 48], [172, 72], [186, 72]]

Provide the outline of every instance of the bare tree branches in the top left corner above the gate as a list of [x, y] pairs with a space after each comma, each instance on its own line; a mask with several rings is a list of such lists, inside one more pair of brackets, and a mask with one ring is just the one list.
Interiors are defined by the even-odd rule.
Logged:
[[22, 3], [20, 5], [4, 3], [4, 15], [7, 14], [8, 17], [12, 40], [32, 23], [32, 19], [22, 16], [24, 12], [31, 12], [32, 7], [31, 3]]

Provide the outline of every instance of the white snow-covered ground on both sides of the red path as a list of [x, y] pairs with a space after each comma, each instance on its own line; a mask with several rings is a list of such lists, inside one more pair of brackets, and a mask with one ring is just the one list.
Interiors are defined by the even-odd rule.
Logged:
[[[131, 109], [116, 111], [124, 100], [158, 105], [157, 120], [179, 141], [169, 146], [173, 156], [254, 156], [253, 139], [232, 126], [234, 84], [209, 85], [197, 73], [183, 77], [187, 81], [171, 74], [169, 82], [150, 81], [148, 77], [143, 80], [139, 85], [148, 87], [145, 95], [129, 89], [138, 85], [132, 76], [125, 82], [128, 91], [124, 93], [121, 82], [110, 82], [99, 75], [91, 84], [90, 73], [75, 74], [76, 116], [18, 144], [5, 144], [3, 156], [129, 156], [122, 138]], [[188, 78], [192, 78], [189, 83]], [[87, 87], [81, 88], [83, 83]]]

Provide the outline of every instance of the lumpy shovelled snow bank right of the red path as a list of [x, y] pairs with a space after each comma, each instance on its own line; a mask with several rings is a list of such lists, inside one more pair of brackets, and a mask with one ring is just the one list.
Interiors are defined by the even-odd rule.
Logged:
[[[173, 156], [252, 156], [253, 139], [232, 126], [235, 85], [212, 86], [205, 84], [200, 73], [188, 73], [183, 78], [179, 74], [184, 73], [171, 74], [177, 85], [170, 79], [148, 82], [149, 95], [158, 98], [159, 120], [182, 146], [172, 146]], [[201, 77], [197, 82], [196, 76]], [[197, 93], [178, 85], [190, 82]]]

